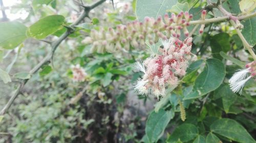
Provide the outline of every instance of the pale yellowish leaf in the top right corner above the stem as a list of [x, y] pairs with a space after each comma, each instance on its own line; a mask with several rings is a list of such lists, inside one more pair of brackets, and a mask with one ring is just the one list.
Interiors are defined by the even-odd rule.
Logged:
[[256, 8], [255, 0], [242, 0], [239, 2], [240, 10], [242, 13], [252, 12]]

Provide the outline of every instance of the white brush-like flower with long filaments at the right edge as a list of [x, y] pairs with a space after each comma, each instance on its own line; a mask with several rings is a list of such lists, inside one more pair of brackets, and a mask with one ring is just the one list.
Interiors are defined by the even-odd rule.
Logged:
[[245, 82], [256, 75], [256, 61], [247, 64], [246, 69], [239, 70], [229, 79], [230, 89], [241, 95]]

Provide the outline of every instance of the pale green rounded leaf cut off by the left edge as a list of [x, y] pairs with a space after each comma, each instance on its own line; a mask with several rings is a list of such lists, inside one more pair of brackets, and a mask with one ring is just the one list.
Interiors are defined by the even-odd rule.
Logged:
[[0, 23], [0, 47], [14, 49], [26, 40], [27, 27], [17, 21]]

